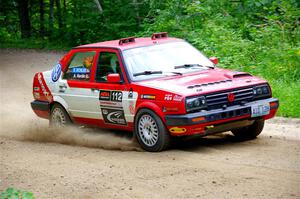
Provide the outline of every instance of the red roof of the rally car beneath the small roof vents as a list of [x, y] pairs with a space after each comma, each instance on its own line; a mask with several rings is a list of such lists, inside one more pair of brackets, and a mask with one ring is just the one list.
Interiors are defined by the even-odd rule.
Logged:
[[159, 39], [152, 39], [151, 37], [144, 37], [144, 38], [134, 38], [133, 42], [123, 43], [123, 44], [119, 44], [120, 40], [112, 40], [112, 41], [104, 41], [104, 42], [81, 45], [81, 46], [77, 46], [75, 48], [76, 49], [78, 49], [78, 48], [117, 48], [120, 50], [126, 50], [126, 49], [130, 49], [130, 48], [151, 46], [151, 45], [158, 44], [158, 43], [167, 43], [167, 42], [173, 42], [173, 41], [183, 41], [183, 40], [174, 38], [174, 37], [159, 38]]

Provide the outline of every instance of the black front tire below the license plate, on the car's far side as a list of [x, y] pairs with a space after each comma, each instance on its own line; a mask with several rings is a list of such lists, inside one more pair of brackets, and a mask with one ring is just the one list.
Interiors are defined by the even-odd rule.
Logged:
[[250, 126], [232, 130], [231, 132], [239, 140], [255, 139], [263, 130], [265, 121], [263, 119], [255, 120]]

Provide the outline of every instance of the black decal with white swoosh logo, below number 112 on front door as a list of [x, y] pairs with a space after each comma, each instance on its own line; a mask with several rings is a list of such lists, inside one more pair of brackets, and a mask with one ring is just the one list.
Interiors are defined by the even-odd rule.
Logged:
[[119, 124], [119, 125], [127, 124], [123, 110], [101, 108], [101, 111], [102, 111], [102, 116], [103, 116], [105, 123]]

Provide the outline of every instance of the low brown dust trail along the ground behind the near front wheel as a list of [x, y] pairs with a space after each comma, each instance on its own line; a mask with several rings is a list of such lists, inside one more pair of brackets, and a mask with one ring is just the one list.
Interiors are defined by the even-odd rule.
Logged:
[[39, 122], [16, 125], [6, 122], [1, 125], [0, 136], [19, 141], [56, 142], [92, 148], [121, 151], [142, 151], [126, 132], [69, 126], [50, 128]]

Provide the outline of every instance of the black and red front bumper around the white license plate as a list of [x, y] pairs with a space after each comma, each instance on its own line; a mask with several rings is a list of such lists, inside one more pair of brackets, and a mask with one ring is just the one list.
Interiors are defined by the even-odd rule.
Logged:
[[[201, 111], [185, 115], [166, 115], [165, 121], [172, 135], [191, 135], [205, 133], [205, 131], [211, 132], [211, 128], [214, 128], [214, 124], [219, 124], [220, 126], [220, 124], [232, 123], [232, 127], [235, 127], [235, 124], [233, 124], [235, 121], [254, 121], [255, 119], [259, 119], [251, 117], [251, 105], [257, 103], [270, 104], [269, 114], [259, 117], [265, 120], [274, 117], [279, 107], [278, 99], [269, 98], [249, 102], [244, 105], [235, 105], [225, 109]], [[247, 125], [251, 125], [251, 122], [240, 123], [236, 128]], [[230, 125], [226, 125], [224, 131], [230, 130], [228, 126], [230, 127]], [[219, 132], [222, 132], [222, 128], [219, 128]]]

